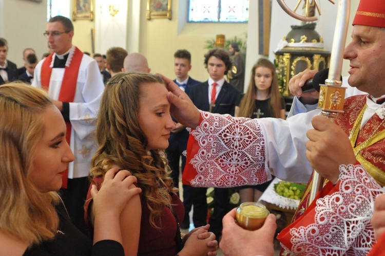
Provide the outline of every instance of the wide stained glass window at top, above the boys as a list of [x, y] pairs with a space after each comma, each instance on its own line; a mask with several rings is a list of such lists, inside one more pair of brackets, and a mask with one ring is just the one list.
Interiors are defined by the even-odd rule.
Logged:
[[188, 22], [247, 22], [249, 0], [189, 0]]

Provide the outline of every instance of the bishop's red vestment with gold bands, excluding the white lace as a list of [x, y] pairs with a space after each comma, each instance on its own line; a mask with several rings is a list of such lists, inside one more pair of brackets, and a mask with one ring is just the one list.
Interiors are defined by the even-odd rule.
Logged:
[[[335, 123], [338, 124], [347, 135], [353, 130], [353, 126], [356, 120], [360, 116], [361, 110], [365, 107], [366, 95], [353, 96], [348, 99], [345, 99], [344, 102], [344, 113], [339, 114], [335, 119]], [[360, 129], [357, 137], [357, 141], [352, 142], [353, 148], [357, 145], [356, 148], [360, 148], [360, 144], [371, 137], [375, 139], [373, 143], [368, 143], [367, 147], [360, 149], [360, 152], [356, 156], [357, 160], [365, 167], [365, 169], [376, 179], [378, 184], [384, 186], [385, 182], [385, 173], [382, 170], [385, 170], [385, 140], [383, 139], [384, 123], [381, 124], [381, 127], [377, 129], [380, 120], [377, 114], [373, 117]], [[377, 126], [375, 124], [378, 124]], [[359, 124], [358, 124], [359, 125]], [[359, 129], [359, 126], [358, 126]], [[382, 131], [382, 132], [381, 132]], [[381, 134], [382, 133], [382, 134]], [[377, 136], [378, 135], [378, 136]], [[377, 137], [377, 138], [376, 138]], [[313, 176], [313, 174], [312, 174]], [[291, 234], [290, 229], [293, 227], [307, 226], [314, 223], [314, 208], [316, 206], [316, 200], [307, 208], [307, 200], [310, 196], [312, 177], [310, 178], [305, 193], [301, 198], [300, 204], [297, 208], [297, 211], [293, 217], [292, 224], [283, 229], [277, 239], [287, 248], [291, 248]], [[327, 182], [327, 183], [326, 183]], [[331, 182], [325, 181], [326, 185], [323, 189], [317, 194], [316, 199], [324, 197], [327, 194], [331, 194], [338, 190], [338, 186], [333, 186]], [[287, 250], [281, 250], [280, 255], [291, 255]]]

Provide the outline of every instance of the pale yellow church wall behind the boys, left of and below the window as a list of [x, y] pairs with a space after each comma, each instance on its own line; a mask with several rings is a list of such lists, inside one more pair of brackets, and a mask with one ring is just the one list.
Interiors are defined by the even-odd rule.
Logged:
[[149, 62], [151, 72], [160, 72], [170, 78], [174, 75], [174, 52], [178, 49], [187, 49], [191, 53], [192, 78], [205, 81], [208, 78], [204, 68], [203, 55], [205, 41], [215, 39], [216, 34], [225, 34], [226, 38], [243, 38], [246, 40], [247, 24], [212, 24], [212, 23], [185, 23], [188, 6], [172, 1], [172, 20], [146, 20], [146, 1], [142, 1], [141, 35], [139, 50]]

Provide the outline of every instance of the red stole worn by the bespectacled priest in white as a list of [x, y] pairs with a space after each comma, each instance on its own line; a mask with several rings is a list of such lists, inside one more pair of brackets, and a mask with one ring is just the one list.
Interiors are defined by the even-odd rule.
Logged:
[[[41, 71], [41, 80], [42, 80], [42, 88], [48, 92], [49, 82], [51, 79], [52, 68], [50, 67], [52, 63], [51, 53], [43, 62], [42, 71]], [[59, 98], [57, 100], [62, 102], [73, 102], [75, 98], [76, 92], [76, 82], [78, 81], [78, 74], [80, 63], [82, 62], [83, 52], [75, 47], [75, 51], [72, 56], [71, 63], [65, 67], [64, 76], [62, 80], [62, 85], [60, 88]], [[65, 83], [63, 83], [65, 81]], [[71, 123], [66, 122], [67, 126], [67, 134], [66, 140], [68, 144], [70, 144], [71, 138]], [[63, 184], [62, 188], [67, 188], [68, 184], [68, 169], [63, 174]]]

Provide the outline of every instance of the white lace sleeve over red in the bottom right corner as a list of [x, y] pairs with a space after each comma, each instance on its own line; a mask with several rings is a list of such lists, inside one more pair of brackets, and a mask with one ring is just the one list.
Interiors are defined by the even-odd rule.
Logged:
[[374, 246], [370, 220], [374, 200], [384, 191], [360, 165], [342, 165], [340, 172], [335, 190], [317, 200], [299, 228], [290, 229], [288, 249], [295, 255], [367, 255]]

